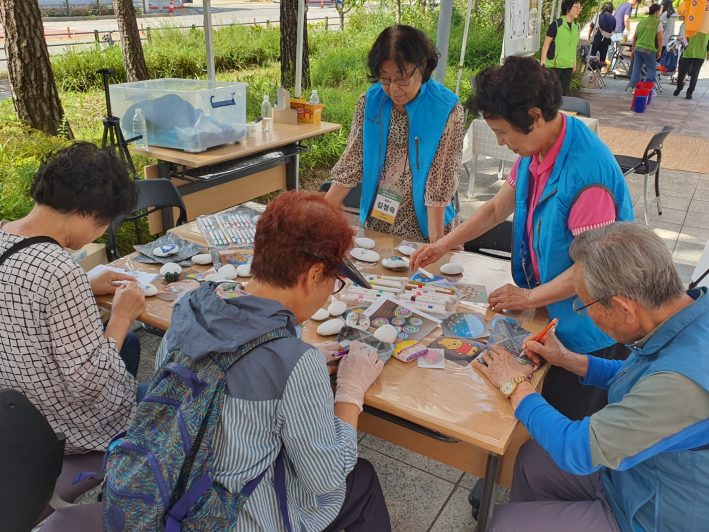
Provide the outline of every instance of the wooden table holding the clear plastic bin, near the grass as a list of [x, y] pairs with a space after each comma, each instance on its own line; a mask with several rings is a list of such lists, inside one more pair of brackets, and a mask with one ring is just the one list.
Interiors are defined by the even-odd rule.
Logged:
[[[148, 146], [131, 153], [158, 160], [145, 167], [147, 179], [171, 179], [183, 196], [187, 219], [195, 220], [232, 205], [250, 201], [283, 188], [298, 188], [298, 157], [307, 151], [306, 139], [340, 129], [340, 124], [274, 123], [269, 133], [257, 127], [255, 137], [232, 146], [219, 146], [201, 153]], [[174, 226], [177, 209], [149, 215], [150, 233]]]

